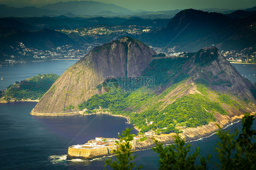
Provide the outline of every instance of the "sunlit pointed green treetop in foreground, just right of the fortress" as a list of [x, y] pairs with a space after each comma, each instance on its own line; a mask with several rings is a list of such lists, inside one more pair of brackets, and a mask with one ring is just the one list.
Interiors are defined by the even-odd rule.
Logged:
[[105, 161], [105, 166], [110, 165], [113, 170], [133, 170], [134, 168], [139, 170], [142, 168], [141, 165], [137, 168], [135, 162], [133, 162], [137, 156], [133, 156], [131, 153], [132, 144], [130, 141], [133, 140], [133, 135], [131, 135], [132, 129], [126, 128], [123, 130], [122, 136], [118, 135], [120, 138], [120, 142], [116, 141], [118, 150], [114, 150], [114, 153], [117, 154], [117, 161], [110, 158]]

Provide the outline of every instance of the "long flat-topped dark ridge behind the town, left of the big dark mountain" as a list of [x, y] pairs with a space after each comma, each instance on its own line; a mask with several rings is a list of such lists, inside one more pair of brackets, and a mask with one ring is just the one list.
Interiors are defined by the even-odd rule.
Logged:
[[[67, 14], [68, 15], [68, 14]], [[170, 19], [142, 19], [134, 17], [131, 19], [126, 18], [107, 18], [107, 17], [94, 17], [94, 18], [82, 18], [82, 17], [67, 17], [60, 15], [58, 17], [12, 17], [12, 20], [26, 23], [27, 25], [33, 25], [37, 29], [51, 28], [51, 29], [76, 29], [79, 27], [89, 27], [93, 25], [143, 25], [152, 26], [152, 28], [164, 27], [168, 24]], [[11, 20], [9, 20], [12, 23]], [[0, 26], [8, 26], [7, 23], [1, 23]], [[20, 28], [19, 25], [15, 24]], [[15, 26], [14, 26], [15, 27]], [[20, 28], [23, 29], [23, 28]], [[107, 41], [108, 42], [108, 41]]]

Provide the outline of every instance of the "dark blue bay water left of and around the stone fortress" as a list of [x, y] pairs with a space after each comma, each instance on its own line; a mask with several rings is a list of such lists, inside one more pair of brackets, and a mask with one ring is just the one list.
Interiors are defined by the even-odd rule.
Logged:
[[132, 127], [125, 118], [109, 115], [32, 116], [35, 105], [0, 104], [0, 169], [102, 169], [108, 158], [65, 160], [68, 146], [95, 137], [118, 137], [118, 132]]

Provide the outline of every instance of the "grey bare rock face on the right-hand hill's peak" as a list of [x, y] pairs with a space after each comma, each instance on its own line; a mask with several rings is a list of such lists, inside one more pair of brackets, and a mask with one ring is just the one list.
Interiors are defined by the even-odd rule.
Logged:
[[[204, 80], [203, 83], [212, 90], [256, 102], [250, 90], [255, 87], [221, 55], [216, 47], [199, 50], [193, 59], [194, 65], [196, 65], [196, 62], [201, 63], [201, 65], [197, 65], [197, 67], [201, 67], [201, 70], [195, 74], [195, 81]], [[202, 65], [202, 63], [205, 65]]]

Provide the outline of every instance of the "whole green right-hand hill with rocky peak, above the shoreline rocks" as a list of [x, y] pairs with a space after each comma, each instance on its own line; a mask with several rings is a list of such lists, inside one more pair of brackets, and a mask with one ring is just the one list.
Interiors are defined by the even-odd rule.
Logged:
[[113, 114], [128, 116], [141, 132], [156, 133], [178, 132], [180, 127], [207, 125], [222, 115], [255, 110], [255, 87], [216, 48], [153, 60], [143, 75], [154, 76], [153, 91], [141, 87], [123, 92], [120, 87], [114, 94], [94, 95], [78, 108], [109, 108]]

